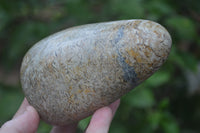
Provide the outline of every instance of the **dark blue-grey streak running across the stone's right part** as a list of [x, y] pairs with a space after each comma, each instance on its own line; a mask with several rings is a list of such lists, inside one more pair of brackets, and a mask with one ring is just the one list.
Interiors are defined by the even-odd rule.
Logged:
[[116, 52], [118, 54], [117, 60], [119, 61], [119, 64], [121, 65], [124, 71], [124, 76], [123, 76], [124, 80], [126, 82], [131, 82], [133, 85], [137, 85], [138, 78], [134, 68], [125, 62], [125, 58], [120, 53], [119, 45], [116, 45], [122, 39], [123, 35], [124, 35], [124, 26], [122, 26], [119, 29], [117, 37], [112, 41], [113, 42], [112, 45], [116, 49]]

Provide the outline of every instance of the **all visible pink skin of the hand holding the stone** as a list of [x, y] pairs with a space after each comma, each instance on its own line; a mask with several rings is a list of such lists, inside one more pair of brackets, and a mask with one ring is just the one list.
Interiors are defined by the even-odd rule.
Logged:
[[[110, 123], [120, 104], [120, 100], [115, 101], [109, 106], [98, 109], [85, 130], [85, 133], [108, 133]], [[0, 133], [35, 133], [40, 122], [37, 111], [29, 105], [26, 98], [20, 108], [12, 118], [0, 128]], [[53, 126], [50, 133], [75, 133], [76, 124], [67, 126]]]

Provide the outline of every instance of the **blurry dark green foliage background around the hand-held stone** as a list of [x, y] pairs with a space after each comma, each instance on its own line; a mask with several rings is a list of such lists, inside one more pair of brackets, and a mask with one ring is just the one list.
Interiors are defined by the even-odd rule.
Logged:
[[[20, 64], [33, 44], [71, 26], [138, 18], [165, 26], [173, 46], [162, 68], [122, 98], [110, 132], [199, 133], [199, 0], [0, 0], [0, 125], [23, 100]], [[50, 128], [41, 122], [38, 133]]]

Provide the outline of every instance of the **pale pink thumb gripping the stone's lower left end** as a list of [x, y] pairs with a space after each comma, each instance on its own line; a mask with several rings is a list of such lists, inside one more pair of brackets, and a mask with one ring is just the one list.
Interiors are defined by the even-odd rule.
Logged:
[[32, 106], [19, 116], [6, 122], [0, 129], [0, 133], [35, 133], [39, 124], [39, 115]]

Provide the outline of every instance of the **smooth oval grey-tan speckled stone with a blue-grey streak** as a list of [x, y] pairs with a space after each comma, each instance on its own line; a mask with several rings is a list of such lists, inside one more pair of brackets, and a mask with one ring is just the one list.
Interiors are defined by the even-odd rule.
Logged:
[[167, 30], [148, 20], [73, 27], [43, 39], [27, 52], [21, 84], [44, 121], [67, 125], [150, 77], [170, 49]]

